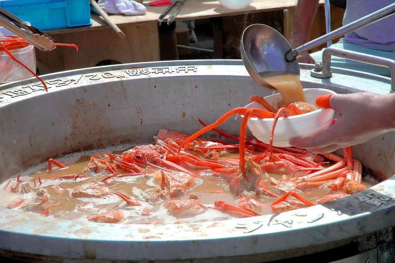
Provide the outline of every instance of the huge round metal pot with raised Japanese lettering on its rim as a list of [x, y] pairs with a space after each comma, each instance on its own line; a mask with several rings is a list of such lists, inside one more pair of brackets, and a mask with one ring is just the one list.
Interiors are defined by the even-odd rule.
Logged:
[[[338, 93], [390, 90], [385, 77], [332, 69], [332, 78], [322, 80], [310, 77], [309, 69], [302, 65], [305, 88]], [[230, 108], [245, 105], [249, 96], [269, 94], [252, 81], [240, 61], [105, 66], [44, 79], [48, 93], [34, 79], [0, 88], [1, 181], [48, 158], [152, 142], [159, 128], [191, 133], [200, 128], [197, 118], [213, 122]], [[236, 134], [237, 127], [228, 121], [223, 129]], [[341, 200], [281, 214], [194, 224], [114, 225], [0, 207], [1, 254], [45, 261], [194, 262], [267, 262], [313, 254], [318, 262], [348, 257], [376, 262], [380, 253], [380, 262], [391, 262], [394, 146], [394, 133], [388, 133], [354, 151], [387, 180]]]

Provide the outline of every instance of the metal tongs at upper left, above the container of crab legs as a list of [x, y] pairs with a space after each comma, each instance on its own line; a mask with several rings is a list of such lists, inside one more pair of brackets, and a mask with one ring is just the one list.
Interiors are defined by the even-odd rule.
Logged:
[[0, 7], [0, 26], [22, 37], [29, 44], [42, 51], [50, 51], [56, 48], [55, 42], [49, 35], [24, 22], [4, 8]]

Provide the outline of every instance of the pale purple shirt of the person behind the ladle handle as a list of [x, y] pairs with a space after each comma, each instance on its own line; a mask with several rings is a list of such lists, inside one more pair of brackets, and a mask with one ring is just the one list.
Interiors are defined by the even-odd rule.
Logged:
[[[343, 25], [394, 3], [394, 0], [348, 0]], [[346, 34], [341, 40], [372, 49], [395, 51], [395, 15]]]

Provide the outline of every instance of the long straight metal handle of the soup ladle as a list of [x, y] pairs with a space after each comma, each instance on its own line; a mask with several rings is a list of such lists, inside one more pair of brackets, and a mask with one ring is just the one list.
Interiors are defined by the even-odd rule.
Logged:
[[395, 13], [395, 3], [390, 4], [384, 8], [381, 8], [371, 14], [368, 14], [364, 17], [359, 18], [358, 20], [347, 24], [337, 30], [332, 31], [331, 33], [324, 34], [316, 39], [313, 39], [310, 42], [307, 42], [300, 47], [292, 49], [288, 51], [285, 55], [285, 58], [288, 62], [292, 62], [296, 59], [299, 54], [305, 53], [317, 46], [320, 46], [330, 40], [343, 36], [347, 33], [353, 32], [357, 29], [363, 28], [367, 25], [380, 21], [384, 18], [387, 18]]

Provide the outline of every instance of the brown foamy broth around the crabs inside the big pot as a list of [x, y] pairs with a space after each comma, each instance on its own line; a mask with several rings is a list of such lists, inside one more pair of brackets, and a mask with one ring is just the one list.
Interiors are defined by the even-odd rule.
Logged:
[[[181, 133], [167, 131], [167, 138], [171, 139], [182, 139], [182, 136], [186, 136]], [[212, 163], [223, 162], [223, 164], [229, 164], [229, 167], [235, 168], [238, 163], [238, 149], [222, 149], [222, 150], [209, 150], [207, 147], [223, 145], [217, 142], [208, 142], [203, 140], [198, 140], [194, 143], [192, 148], [188, 149], [188, 153], [194, 154], [196, 156], [204, 156], [206, 159], [210, 160]], [[200, 147], [200, 148], [199, 148]], [[160, 149], [160, 147], [158, 147]], [[207, 149], [207, 150], [204, 150]], [[161, 149], [163, 150], [163, 149]], [[111, 151], [109, 150], [108, 153]], [[212, 154], [215, 152], [214, 154]], [[120, 152], [113, 152], [113, 154], [121, 154]], [[253, 157], [262, 151], [257, 149], [249, 148], [247, 151], [247, 157]], [[216, 155], [218, 154], [218, 155]], [[7, 207], [12, 201], [18, 198], [23, 199], [21, 205], [12, 207], [10, 209], [21, 210], [30, 213], [40, 213], [43, 216], [51, 216], [59, 219], [67, 220], [82, 220], [86, 221], [89, 216], [96, 215], [98, 213], [119, 210], [124, 215], [124, 219], [121, 220], [122, 223], [126, 224], [167, 224], [167, 223], [181, 223], [181, 222], [202, 222], [202, 221], [217, 221], [226, 220], [231, 218], [236, 218], [235, 214], [230, 214], [226, 211], [220, 211], [214, 209], [214, 203], [217, 200], [225, 201], [229, 204], [236, 205], [237, 201], [241, 197], [253, 197], [262, 205], [254, 207], [254, 210], [259, 214], [271, 214], [273, 213], [271, 209], [271, 203], [274, 202], [277, 197], [271, 197], [265, 194], [265, 192], [259, 192], [257, 194], [250, 189], [245, 188], [242, 182], [241, 194], [234, 193], [231, 185], [231, 181], [240, 176], [238, 172], [234, 173], [222, 173], [216, 172], [215, 168], [210, 168], [207, 166], [197, 166], [188, 162], [181, 162], [179, 165], [190, 171], [192, 174], [196, 174], [199, 177], [193, 177], [188, 174], [178, 172], [178, 175], [183, 175], [184, 178], [188, 178], [193, 184], [182, 186], [179, 192], [175, 195], [163, 194], [162, 190], [169, 190], [170, 186], [165, 182], [162, 187], [162, 178], [170, 180], [170, 174], [168, 167], [160, 166], [160, 162], [157, 160], [156, 164], [153, 164], [153, 160], [149, 160], [151, 165], [142, 165], [143, 175], [131, 175], [124, 176], [125, 174], [130, 174], [130, 171], [122, 169], [119, 165], [115, 165], [114, 161], [110, 160], [110, 155], [104, 152], [96, 152], [93, 154], [97, 159], [108, 162], [111, 165], [117, 166], [119, 174], [114, 175], [108, 169], [104, 168], [99, 170], [87, 169], [92, 164], [90, 162], [92, 154], [87, 155], [87, 153], [81, 153], [77, 158], [66, 158], [63, 159], [67, 168], [57, 168], [55, 167], [52, 171], [48, 171], [46, 167], [42, 165], [32, 171], [23, 173], [18, 179], [12, 179], [11, 183], [9, 180], [4, 181], [1, 184], [0, 190], [0, 205]], [[168, 156], [171, 154], [167, 153]], [[135, 156], [139, 157], [139, 153]], [[216, 156], [216, 157], [210, 157]], [[311, 158], [313, 156], [305, 156], [305, 158]], [[140, 156], [139, 158], [142, 158]], [[161, 157], [163, 158], [163, 157]], [[167, 157], [164, 157], [167, 158]], [[116, 160], [116, 159], [114, 159]], [[260, 161], [259, 165], [268, 164], [270, 162]], [[325, 164], [330, 165], [330, 164]], [[100, 165], [99, 165], [100, 166]], [[159, 168], [158, 168], [159, 167]], [[266, 166], [265, 166], [266, 167]], [[97, 168], [97, 167], [96, 167]], [[163, 170], [163, 174], [166, 177], [162, 177], [160, 170]], [[175, 169], [171, 169], [175, 170]], [[175, 172], [177, 173], [177, 172]], [[66, 179], [61, 179], [61, 176], [72, 174]], [[81, 175], [74, 180], [73, 174]], [[134, 173], [133, 173], [134, 174]], [[283, 175], [286, 174], [284, 169], [278, 169], [276, 172], [265, 171], [261, 168], [259, 176], [269, 191], [275, 193], [278, 196], [282, 196], [284, 193], [292, 190], [293, 184], [281, 181]], [[187, 176], [188, 175], [188, 176]], [[251, 173], [247, 175], [252, 181]], [[286, 174], [288, 178], [291, 178], [292, 174]], [[295, 176], [302, 176], [303, 172], [297, 172]], [[82, 177], [86, 176], [86, 177]], [[107, 180], [103, 180], [113, 176]], [[122, 200], [117, 195], [103, 195], [101, 197], [73, 197], [73, 190], [76, 187], [86, 184], [88, 182], [96, 183], [101, 187], [107, 187], [110, 191], [117, 191], [124, 194], [132, 199], [137, 200], [141, 205], [128, 205], [124, 200]], [[372, 186], [376, 183], [373, 180], [363, 180], [362, 184], [366, 187]], [[28, 189], [27, 191], [22, 191], [22, 189]], [[41, 189], [47, 191], [47, 200], [42, 201], [42, 197], [39, 195]], [[295, 190], [297, 191], [297, 190]], [[161, 194], [158, 194], [161, 193]], [[316, 203], [316, 201], [328, 194], [343, 193], [342, 190], [332, 190], [328, 187], [319, 187], [315, 189], [309, 189], [300, 193], [305, 198]], [[162, 195], [163, 194], [163, 195]], [[190, 195], [191, 194], [191, 195]], [[198, 198], [201, 202], [201, 209], [198, 211], [173, 213], [174, 208], [169, 208], [169, 201], [182, 200], [188, 201], [190, 198]], [[289, 200], [292, 202], [297, 202], [293, 197]], [[304, 207], [303, 205], [301, 207]], [[218, 207], [217, 207], [218, 208]], [[173, 210], [171, 210], [173, 209]], [[172, 212], [173, 211], [173, 212]]]

